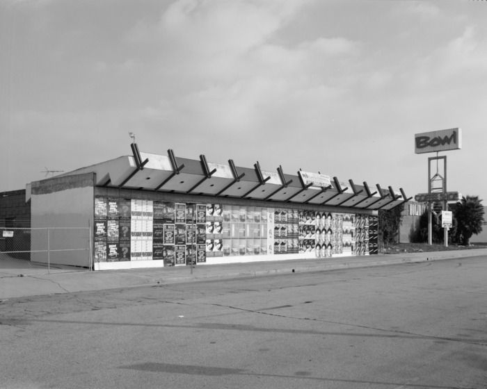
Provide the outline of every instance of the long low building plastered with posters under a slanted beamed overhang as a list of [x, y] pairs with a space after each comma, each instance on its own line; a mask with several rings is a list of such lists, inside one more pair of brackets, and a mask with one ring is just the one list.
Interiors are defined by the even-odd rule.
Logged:
[[[210, 265], [378, 252], [379, 209], [408, 199], [401, 189], [141, 153], [28, 185], [31, 260], [50, 247], [90, 247], [94, 270]], [[72, 233], [83, 227], [89, 233]], [[69, 248], [67, 248], [69, 250]], [[86, 266], [86, 251], [50, 254]]]

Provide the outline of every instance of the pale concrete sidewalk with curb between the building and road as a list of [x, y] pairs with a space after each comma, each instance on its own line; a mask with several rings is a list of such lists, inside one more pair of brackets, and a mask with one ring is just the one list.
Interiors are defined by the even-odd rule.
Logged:
[[[487, 249], [466, 249], [458, 251], [432, 251], [415, 254], [393, 254], [374, 256], [349, 256], [340, 258], [316, 258], [280, 260], [269, 262], [233, 263], [227, 265], [197, 265], [160, 267], [140, 270], [106, 270], [99, 272], [65, 272], [58, 274], [25, 274], [10, 269], [12, 276], [0, 278], [1, 299], [51, 295], [55, 293], [81, 292], [130, 288], [141, 285], [182, 283], [216, 279], [237, 279], [292, 274], [323, 272], [351, 267], [372, 267], [399, 263], [421, 263], [431, 260], [487, 256]], [[22, 275], [22, 276], [20, 276]]]

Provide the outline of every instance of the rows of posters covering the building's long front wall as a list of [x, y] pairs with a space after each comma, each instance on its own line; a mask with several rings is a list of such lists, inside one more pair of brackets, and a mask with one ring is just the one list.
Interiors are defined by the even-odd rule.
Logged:
[[[95, 260], [374, 253], [377, 218], [312, 210], [95, 197]], [[369, 220], [373, 220], [369, 222]]]

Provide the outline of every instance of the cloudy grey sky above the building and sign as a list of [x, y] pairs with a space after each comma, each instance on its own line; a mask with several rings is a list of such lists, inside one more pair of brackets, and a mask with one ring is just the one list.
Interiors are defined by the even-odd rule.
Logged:
[[447, 190], [487, 201], [487, 1], [0, 0], [0, 17], [0, 192], [131, 155], [132, 132], [147, 153], [413, 197], [436, 156], [414, 135], [458, 127]]

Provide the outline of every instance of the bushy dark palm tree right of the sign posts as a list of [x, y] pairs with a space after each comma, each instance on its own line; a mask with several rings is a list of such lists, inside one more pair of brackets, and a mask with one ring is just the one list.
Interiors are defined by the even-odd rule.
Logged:
[[462, 197], [461, 202], [453, 207], [457, 221], [456, 238], [462, 245], [468, 246], [472, 235], [482, 231], [484, 206], [478, 196]]

